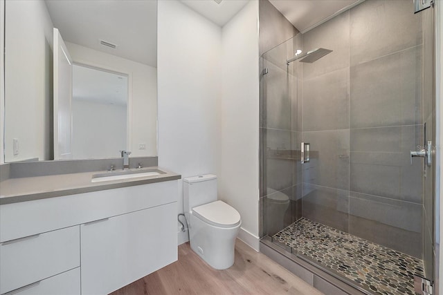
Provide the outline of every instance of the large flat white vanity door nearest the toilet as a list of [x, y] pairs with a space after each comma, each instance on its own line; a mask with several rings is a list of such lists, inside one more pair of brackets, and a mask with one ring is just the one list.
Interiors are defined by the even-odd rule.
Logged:
[[82, 294], [109, 294], [175, 260], [176, 214], [172, 203], [81, 225]]

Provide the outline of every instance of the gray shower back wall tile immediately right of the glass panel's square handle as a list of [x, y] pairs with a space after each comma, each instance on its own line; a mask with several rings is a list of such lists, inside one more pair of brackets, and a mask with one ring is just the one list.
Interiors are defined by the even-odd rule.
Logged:
[[311, 161], [302, 164], [303, 182], [349, 189], [349, 130], [302, 133], [311, 144]]

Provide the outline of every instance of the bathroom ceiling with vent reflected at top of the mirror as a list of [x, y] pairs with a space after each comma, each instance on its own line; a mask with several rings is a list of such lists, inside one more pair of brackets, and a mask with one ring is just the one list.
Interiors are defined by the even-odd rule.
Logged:
[[[150, 0], [46, 0], [65, 41], [148, 66], [157, 66], [157, 2]], [[116, 44], [112, 49], [100, 40]]]

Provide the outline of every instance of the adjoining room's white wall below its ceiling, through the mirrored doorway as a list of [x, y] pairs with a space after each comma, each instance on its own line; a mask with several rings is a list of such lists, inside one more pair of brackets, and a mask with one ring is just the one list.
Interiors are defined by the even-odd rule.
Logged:
[[120, 157], [118, 151], [126, 149], [126, 115], [127, 107], [123, 104], [73, 99], [73, 158]]

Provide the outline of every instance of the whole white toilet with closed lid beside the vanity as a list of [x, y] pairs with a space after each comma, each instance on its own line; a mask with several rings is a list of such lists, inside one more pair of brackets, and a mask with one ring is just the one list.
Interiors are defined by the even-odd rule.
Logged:
[[183, 206], [191, 249], [215, 269], [231, 267], [242, 220], [237, 210], [217, 201], [217, 176], [184, 178]]

